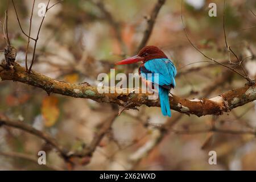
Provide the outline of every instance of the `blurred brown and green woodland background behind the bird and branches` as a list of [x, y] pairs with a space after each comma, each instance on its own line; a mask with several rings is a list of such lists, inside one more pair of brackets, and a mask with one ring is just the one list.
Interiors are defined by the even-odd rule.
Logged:
[[[24, 31], [28, 32], [31, 0], [15, 0]], [[35, 37], [42, 17], [36, 0], [31, 36]], [[57, 1], [51, 1], [53, 5]], [[72, 84], [96, 86], [99, 73], [137, 72], [134, 67], [114, 63], [137, 52], [147, 19], [156, 0], [64, 0], [46, 15], [36, 48], [34, 71]], [[216, 3], [217, 16], [210, 17], [209, 3]], [[0, 5], [0, 50], [6, 43], [2, 23], [8, 1]], [[228, 46], [243, 61], [251, 79], [256, 77], [256, 1], [226, 1], [225, 31]], [[224, 1], [187, 0], [183, 18], [191, 42], [200, 51], [228, 64], [224, 28]], [[20, 31], [14, 7], [9, 3], [9, 37], [17, 49], [16, 61], [24, 66], [27, 38]], [[181, 1], [167, 0], [159, 11], [147, 45], [160, 47], [174, 62], [178, 75], [172, 93], [183, 98], [210, 98], [245, 85], [246, 80], [220, 65], [209, 63], [191, 46], [181, 22]], [[28, 48], [31, 60], [34, 42]], [[230, 55], [233, 62], [237, 59]], [[4, 59], [3, 53], [0, 60]], [[204, 62], [208, 61], [208, 62]], [[243, 73], [242, 67], [237, 71]], [[19, 82], [0, 82], [0, 113], [46, 132], [69, 150], [88, 146], [105, 122], [110, 126], [97, 143], [92, 157], [74, 158], [72, 165], [54, 147], [20, 129], [0, 127], [1, 170], [255, 170], [256, 102], [220, 116], [196, 117], [172, 111], [163, 117], [159, 107], [139, 107], [116, 116], [117, 106], [91, 100], [48, 94]], [[159, 129], [164, 123], [170, 129]], [[232, 132], [208, 132], [210, 127]], [[47, 154], [47, 165], [37, 163], [38, 151]], [[217, 164], [210, 165], [209, 151], [216, 151]], [[12, 154], [11, 156], [8, 154]], [[22, 155], [20, 155], [22, 154]]]

